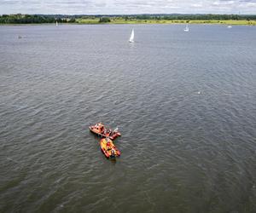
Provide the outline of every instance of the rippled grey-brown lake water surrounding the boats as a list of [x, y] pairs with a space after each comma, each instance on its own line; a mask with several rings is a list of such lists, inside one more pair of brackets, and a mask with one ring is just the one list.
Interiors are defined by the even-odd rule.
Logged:
[[0, 26], [0, 212], [256, 212], [256, 27], [183, 28]]

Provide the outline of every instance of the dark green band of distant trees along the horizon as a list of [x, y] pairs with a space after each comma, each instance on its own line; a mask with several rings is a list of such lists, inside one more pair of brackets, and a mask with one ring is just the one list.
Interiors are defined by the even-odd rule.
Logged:
[[256, 20], [256, 14], [113, 14], [113, 15], [65, 15], [65, 14], [3, 14], [0, 24], [75, 23], [76, 19], [123, 20]]

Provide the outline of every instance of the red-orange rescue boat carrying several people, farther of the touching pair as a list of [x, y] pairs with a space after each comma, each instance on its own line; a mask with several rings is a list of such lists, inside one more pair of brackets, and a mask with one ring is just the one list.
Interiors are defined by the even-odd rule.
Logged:
[[98, 123], [89, 127], [90, 131], [101, 137], [109, 137], [111, 140], [120, 136], [118, 129], [110, 130], [107, 129], [102, 123]]

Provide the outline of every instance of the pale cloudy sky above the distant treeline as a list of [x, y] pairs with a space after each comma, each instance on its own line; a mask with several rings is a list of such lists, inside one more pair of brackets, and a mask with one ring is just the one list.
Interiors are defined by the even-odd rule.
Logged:
[[0, 14], [256, 14], [256, 0], [0, 0]]

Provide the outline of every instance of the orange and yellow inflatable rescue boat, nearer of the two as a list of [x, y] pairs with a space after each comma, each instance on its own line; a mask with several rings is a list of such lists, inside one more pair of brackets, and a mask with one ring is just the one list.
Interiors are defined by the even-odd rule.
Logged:
[[104, 153], [107, 158], [115, 158], [117, 156], [120, 156], [120, 151], [117, 147], [114, 146], [113, 141], [108, 137], [102, 138], [100, 144], [102, 148], [102, 153]]

